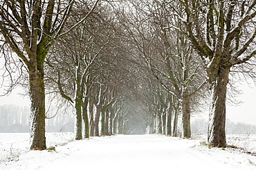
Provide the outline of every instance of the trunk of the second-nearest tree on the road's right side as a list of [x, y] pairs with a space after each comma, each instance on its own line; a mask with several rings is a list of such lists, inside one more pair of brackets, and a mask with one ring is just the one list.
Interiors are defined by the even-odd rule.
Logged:
[[182, 137], [190, 138], [190, 98], [188, 98], [188, 92], [185, 91], [182, 94]]

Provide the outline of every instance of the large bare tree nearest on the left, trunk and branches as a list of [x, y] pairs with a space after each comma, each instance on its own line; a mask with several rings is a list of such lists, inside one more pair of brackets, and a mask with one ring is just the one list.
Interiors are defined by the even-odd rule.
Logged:
[[[31, 99], [30, 149], [46, 149], [44, 61], [48, 50], [60, 37], [89, 17], [67, 27], [75, 1], [1, 1], [1, 45], [8, 45], [26, 66]], [[3, 48], [1, 48], [3, 49]]]

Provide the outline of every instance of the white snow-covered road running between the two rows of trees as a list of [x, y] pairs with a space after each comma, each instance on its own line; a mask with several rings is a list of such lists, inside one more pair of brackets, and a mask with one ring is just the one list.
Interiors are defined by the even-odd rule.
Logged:
[[[57, 147], [57, 153], [29, 151], [18, 162], [10, 166], [2, 164], [2, 167], [26, 170], [256, 169], [253, 157], [248, 161], [245, 156], [240, 158], [228, 151], [195, 145], [195, 140], [156, 135], [93, 138]], [[245, 164], [245, 160], [248, 163]]]

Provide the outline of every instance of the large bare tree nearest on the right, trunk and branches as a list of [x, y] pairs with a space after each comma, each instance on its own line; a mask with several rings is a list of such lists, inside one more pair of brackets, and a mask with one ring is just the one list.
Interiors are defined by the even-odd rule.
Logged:
[[[201, 56], [212, 89], [208, 142], [214, 147], [226, 147], [228, 78], [237, 65], [255, 59], [256, 1], [179, 0], [173, 5], [185, 29], [169, 26], [188, 36]], [[178, 11], [181, 8], [182, 12]]]

